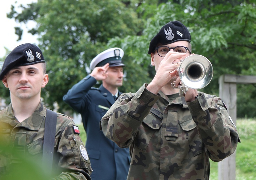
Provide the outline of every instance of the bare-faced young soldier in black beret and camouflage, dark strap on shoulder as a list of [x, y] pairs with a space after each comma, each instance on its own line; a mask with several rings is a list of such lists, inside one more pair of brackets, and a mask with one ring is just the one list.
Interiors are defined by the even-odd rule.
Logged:
[[[48, 164], [42, 164], [42, 152], [48, 110], [40, 93], [48, 83], [48, 74], [39, 47], [27, 43], [11, 51], [3, 63], [0, 80], [9, 88], [11, 98], [10, 105], [0, 111], [0, 143], [18, 152], [0, 150], [0, 179], [6, 176], [12, 179], [11, 175], [17, 172], [13, 164], [22, 163], [24, 157], [32, 159], [34, 166], [44, 165], [47, 169]], [[72, 119], [60, 113], [57, 119], [51, 120], [57, 120], [56, 130], [53, 129], [52, 179], [91, 180], [91, 165], [78, 127]], [[31, 173], [29, 170], [23, 175], [29, 177]]]

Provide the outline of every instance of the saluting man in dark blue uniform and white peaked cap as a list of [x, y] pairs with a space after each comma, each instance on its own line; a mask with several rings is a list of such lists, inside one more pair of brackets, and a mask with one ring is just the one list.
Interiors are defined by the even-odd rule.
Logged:
[[[129, 148], [120, 148], [104, 136], [99, 129], [102, 116], [113, 105], [123, 85], [124, 51], [110, 48], [93, 58], [92, 72], [75, 84], [63, 100], [82, 116], [87, 134], [86, 149], [90, 157], [92, 179], [126, 180], [130, 165]], [[99, 88], [94, 88], [102, 81]]]

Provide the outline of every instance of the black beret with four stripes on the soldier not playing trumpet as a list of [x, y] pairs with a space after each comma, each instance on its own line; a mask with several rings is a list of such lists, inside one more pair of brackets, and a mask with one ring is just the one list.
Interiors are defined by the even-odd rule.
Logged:
[[27, 66], [36, 63], [45, 63], [42, 51], [36, 45], [26, 43], [14, 48], [3, 62], [0, 80], [8, 71], [18, 66]]

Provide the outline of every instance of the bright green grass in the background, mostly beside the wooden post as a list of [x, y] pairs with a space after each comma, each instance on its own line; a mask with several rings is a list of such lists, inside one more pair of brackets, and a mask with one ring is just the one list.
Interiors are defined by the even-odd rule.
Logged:
[[[241, 143], [236, 150], [236, 180], [256, 179], [256, 119], [237, 119]], [[86, 141], [83, 125], [79, 125], [80, 137]], [[210, 161], [210, 180], [218, 180], [218, 163]]]

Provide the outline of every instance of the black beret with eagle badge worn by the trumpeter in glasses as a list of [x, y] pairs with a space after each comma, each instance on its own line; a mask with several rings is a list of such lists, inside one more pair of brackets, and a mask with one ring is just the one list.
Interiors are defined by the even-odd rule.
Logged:
[[170, 21], [160, 29], [155, 37], [152, 38], [149, 44], [148, 54], [155, 51], [158, 43], [166, 45], [176, 41], [190, 42], [191, 36], [187, 27], [180, 21]]

